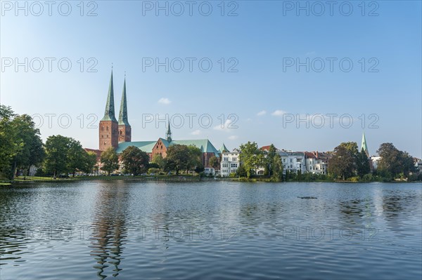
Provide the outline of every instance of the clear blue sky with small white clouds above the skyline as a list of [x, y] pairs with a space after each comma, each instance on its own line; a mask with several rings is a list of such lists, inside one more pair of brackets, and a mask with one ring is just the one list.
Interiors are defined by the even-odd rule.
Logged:
[[332, 3], [1, 1], [0, 102], [96, 149], [113, 65], [132, 141], [422, 158], [421, 1]]

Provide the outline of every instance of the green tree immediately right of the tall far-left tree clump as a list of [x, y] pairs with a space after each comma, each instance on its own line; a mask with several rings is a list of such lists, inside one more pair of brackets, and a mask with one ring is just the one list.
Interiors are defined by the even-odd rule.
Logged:
[[68, 154], [70, 138], [62, 135], [52, 135], [46, 140], [46, 159], [44, 168], [47, 173], [53, 173], [53, 178], [60, 173], [68, 173]]

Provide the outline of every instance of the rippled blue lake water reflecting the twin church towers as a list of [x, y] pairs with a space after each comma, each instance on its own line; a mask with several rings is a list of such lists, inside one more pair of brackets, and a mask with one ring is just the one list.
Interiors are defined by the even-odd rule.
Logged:
[[0, 279], [420, 280], [421, 204], [420, 183], [0, 187]]

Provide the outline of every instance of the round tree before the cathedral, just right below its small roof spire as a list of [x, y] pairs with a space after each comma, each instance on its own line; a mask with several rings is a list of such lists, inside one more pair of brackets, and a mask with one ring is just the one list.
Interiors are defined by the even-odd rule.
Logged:
[[191, 152], [186, 145], [172, 145], [167, 149], [165, 158], [165, 171], [176, 171], [179, 174], [181, 170], [188, 170], [191, 164]]

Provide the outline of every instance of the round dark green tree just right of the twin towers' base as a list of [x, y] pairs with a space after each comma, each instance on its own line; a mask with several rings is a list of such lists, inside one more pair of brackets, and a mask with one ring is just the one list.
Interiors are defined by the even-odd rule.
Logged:
[[124, 173], [139, 175], [148, 169], [149, 156], [141, 149], [129, 146], [122, 152], [122, 163], [124, 164]]

